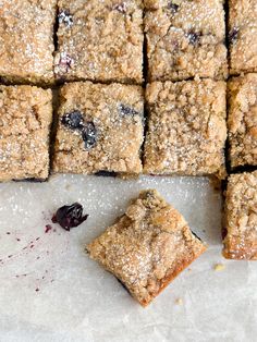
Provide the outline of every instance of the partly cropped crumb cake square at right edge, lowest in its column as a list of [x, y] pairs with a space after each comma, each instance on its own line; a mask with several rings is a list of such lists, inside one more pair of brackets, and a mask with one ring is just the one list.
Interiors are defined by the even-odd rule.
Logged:
[[224, 223], [224, 257], [257, 260], [257, 171], [230, 175]]

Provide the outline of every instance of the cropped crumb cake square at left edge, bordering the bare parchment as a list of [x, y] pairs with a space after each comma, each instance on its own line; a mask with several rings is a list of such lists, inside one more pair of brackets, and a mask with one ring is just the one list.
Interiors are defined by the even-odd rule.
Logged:
[[48, 178], [51, 103], [49, 89], [0, 86], [0, 182]]

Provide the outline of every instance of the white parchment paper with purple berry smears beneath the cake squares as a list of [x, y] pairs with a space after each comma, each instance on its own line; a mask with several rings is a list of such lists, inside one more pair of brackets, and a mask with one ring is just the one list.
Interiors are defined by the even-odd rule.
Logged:
[[[151, 187], [182, 212], [209, 248], [143, 309], [111, 274], [84, 255], [84, 244], [113, 223], [142, 188]], [[57, 232], [45, 234], [52, 211], [75, 200], [85, 206], [88, 220], [70, 233], [56, 227]], [[219, 193], [201, 178], [124, 182], [59, 175], [49, 183], [0, 184], [0, 258], [4, 259], [0, 265], [0, 340], [254, 340], [257, 265], [222, 259], [220, 209]], [[23, 249], [37, 237], [35, 247]], [[15, 257], [7, 261], [9, 255]], [[217, 262], [225, 265], [222, 272], [213, 270]], [[15, 278], [24, 273], [29, 276]]]

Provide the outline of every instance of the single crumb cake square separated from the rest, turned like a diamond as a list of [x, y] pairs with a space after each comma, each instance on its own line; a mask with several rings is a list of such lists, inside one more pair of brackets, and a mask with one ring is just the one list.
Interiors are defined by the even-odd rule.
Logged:
[[148, 190], [86, 249], [146, 306], [206, 247], [183, 216]]

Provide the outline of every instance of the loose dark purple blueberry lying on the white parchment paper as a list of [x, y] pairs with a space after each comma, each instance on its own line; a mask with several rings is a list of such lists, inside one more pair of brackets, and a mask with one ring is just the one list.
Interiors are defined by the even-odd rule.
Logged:
[[53, 223], [59, 223], [63, 229], [70, 231], [71, 228], [82, 224], [88, 215], [83, 216], [83, 206], [74, 203], [71, 206], [63, 206], [57, 210], [52, 217]]

